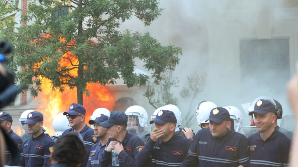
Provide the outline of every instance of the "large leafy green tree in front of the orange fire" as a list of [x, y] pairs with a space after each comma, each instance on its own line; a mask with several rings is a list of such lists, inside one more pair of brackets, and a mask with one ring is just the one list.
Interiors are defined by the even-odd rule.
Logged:
[[[149, 33], [117, 30], [133, 15], [145, 26], [161, 15], [156, 0], [38, 0], [29, 3], [22, 21], [35, 21], [15, 33], [14, 67], [19, 86], [30, 85], [32, 95], [41, 90], [42, 78], [53, 89], [77, 88], [83, 104], [87, 83], [115, 84], [122, 78], [128, 87], [145, 85], [149, 77], [134, 73], [136, 58], [152, 71], [159, 84], [166, 70], [179, 64], [182, 50], [162, 46]], [[32, 79], [33, 78], [33, 79]]]

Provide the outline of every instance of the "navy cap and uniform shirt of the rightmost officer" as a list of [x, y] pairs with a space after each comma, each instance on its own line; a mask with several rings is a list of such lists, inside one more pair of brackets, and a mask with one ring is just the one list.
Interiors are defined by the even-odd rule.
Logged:
[[[275, 113], [275, 106], [268, 100], [261, 99], [254, 105], [254, 111], [249, 112], [249, 115], [268, 112]], [[274, 129], [265, 141], [261, 138], [260, 132], [249, 136], [248, 141], [251, 167], [289, 166], [291, 140], [277, 129]]]

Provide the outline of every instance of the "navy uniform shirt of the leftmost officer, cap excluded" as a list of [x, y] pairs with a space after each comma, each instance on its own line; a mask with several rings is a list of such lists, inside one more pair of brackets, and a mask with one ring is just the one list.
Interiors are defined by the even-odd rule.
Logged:
[[[13, 141], [13, 143], [15, 144], [15, 146], [18, 148], [19, 150], [19, 155], [21, 155], [21, 146], [22, 146], [22, 139], [20, 138], [20, 136], [18, 136], [16, 133], [13, 132], [13, 130], [11, 130], [7, 136]], [[6, 162], [7, 162], [7, 166], [17, 166], [18, 165], [18, 159], [15, 160], [13, 162], [13, 158], [11, 157], [10, 151], [5, 151], [6, 154]]]

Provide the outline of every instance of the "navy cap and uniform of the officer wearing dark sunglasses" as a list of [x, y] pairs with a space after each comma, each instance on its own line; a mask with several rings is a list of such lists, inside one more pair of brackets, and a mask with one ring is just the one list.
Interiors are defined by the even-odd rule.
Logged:
[[[63, 115], [77, 115], [77, 114], [83, 114], [86, 115], [86, 110], [83, 107], [83, 105], [77, 104], [77, 103], [72, 103], [69, 106], [69, 111], [66, 111], [63, 113]], [[62, 135], [66, 135], [69, 132], [73, 132], [74, 129], [73, 128], [69, 128], [66, 129]], [[94, 144], [96, 144], [98, 142], [97, 137], [94, 136], [94, 132], [93, 129], [91, 127], [89, 127], [88, 125], [85, 125], [85, 127], [80, 131], [80, 134], [83, 137], [84, 140], [84, 145], [85, 145], [85, 149], [87, 151], [87, 153], [90, 152], [90, 149], [92, 146], [94, 146]], [[85, 167], [87, 162], [88, 162], [88, 158], [89, 158], [89, 154], [86, 154], [85, 160], [84, 162], [80, 165], [80, 167]]]

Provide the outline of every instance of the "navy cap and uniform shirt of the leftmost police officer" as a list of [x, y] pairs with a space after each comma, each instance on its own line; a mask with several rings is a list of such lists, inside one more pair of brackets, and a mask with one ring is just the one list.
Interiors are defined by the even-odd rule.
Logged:
[[[13, 118], [10, 116], [9, 113], [7, 112], [1, 112], [0, 113], [0, 121], [7, 120], [8, 122], [13, 123]], [[22, 146], [22, 139], [20, 136], [18, 136], [16, 133], [13, 132], [13, 130], [10, 130], [9, 133], [7, 133], [7, 136], [13, 141], [14, 145], [18, 148], [19, 150], [19, 155], [21, 155], [21, 146]], [[6, 148], [5, 150], [5, 155], [6, 155], [6, 165], [8, 166], [17, 166], [18, 165], [18, 160], [13, 160], [13, 157], [11, 156], [10, 151]]]

